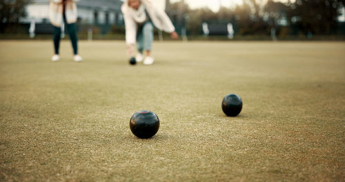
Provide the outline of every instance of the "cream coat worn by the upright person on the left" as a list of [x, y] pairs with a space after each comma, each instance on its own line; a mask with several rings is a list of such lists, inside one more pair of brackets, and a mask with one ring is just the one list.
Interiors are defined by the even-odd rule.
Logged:
[[[77, 22], [77, 5], [75, 2], [79, 0], [72, 0], [66, 3], [66, 21], [67, 23]], [[49, 19], [53, 26], [60, 27], [63, 21], [62, 17], [63, 6], [61, 0], [50, 0], [49, 4]]]

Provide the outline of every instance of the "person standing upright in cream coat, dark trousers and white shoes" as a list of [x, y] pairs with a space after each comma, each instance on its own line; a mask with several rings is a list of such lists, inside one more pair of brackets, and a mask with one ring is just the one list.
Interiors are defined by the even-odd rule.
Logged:
[[70, 41], [73, 48], [73, 59], [76, 62], [83, 61], [83, 58], [78, 54], [78, 37], [75, 23], [77, 22], [77, 5], [75, 1], [79, 0], [50, 0], [49, 18], [54, 26], [54, 48], [55, 54], [52, 56], [52, 61], [59, 61], [59, 46], [61, 40], [61, 23], [65, 23]]

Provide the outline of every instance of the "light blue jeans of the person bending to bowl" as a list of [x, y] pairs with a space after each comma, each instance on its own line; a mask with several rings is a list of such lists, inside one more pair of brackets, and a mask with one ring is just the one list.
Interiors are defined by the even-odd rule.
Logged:
[[139, 52], [143, 50], [151, 50], [153, 42], [153, 26], [150, 21], [138, 26], [137, 32], [137, 48]]

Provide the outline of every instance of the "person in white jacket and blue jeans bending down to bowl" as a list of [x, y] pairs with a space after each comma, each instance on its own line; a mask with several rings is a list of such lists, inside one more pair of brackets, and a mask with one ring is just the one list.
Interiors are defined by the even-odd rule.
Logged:
[[[127, 53], [131, 55], [137, 41], [137, 62], [152, 65], [155, 59], [151, 56], [153, 41], [153, 25], [159, 30], [170, 33], [172, 39], [179, 36], [175, 32], [168, 15], [164, 10], [157, 9], [150, 0], [127, 0], [121, 7], [126, 28]], [[146, 57], [144, 59], [144, 51]]]

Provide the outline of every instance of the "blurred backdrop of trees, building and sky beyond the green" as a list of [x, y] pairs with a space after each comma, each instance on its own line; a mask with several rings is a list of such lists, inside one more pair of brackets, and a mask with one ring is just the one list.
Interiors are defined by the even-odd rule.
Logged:
[[[48, 3], [48, 0], [0, 0], [0, 39], [51, 39]], [[122, 3], [121, 0], [79, 1], [79, 39], [124, 39]], [[154, 0], [154, 3], [166, 10], [184, 41], [345, 40], [345, 0]], [[158, 30], [155, 38], [170, 39]]]

